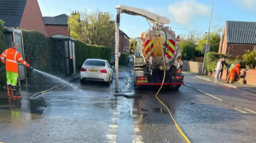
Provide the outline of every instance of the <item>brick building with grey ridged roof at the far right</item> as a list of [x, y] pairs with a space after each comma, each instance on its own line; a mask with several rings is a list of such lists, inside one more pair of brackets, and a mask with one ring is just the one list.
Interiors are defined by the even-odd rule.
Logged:
[[218, 53], [244, 55], [256, 46], [256, 22], [227, 21], [220, 40]]

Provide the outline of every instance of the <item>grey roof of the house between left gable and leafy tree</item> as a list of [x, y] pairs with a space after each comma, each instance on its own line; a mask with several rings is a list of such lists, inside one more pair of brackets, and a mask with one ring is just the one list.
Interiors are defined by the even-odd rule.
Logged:
[[44, 24], [52, 25], [68, 25], [68, 16], [66, 14], [61, 14], [54, 17], [43, 17]]

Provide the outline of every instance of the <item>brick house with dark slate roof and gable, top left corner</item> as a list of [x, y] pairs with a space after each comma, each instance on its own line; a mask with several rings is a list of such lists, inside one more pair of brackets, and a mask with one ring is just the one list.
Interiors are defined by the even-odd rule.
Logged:
[[0, 20], [6, 27], [36, 30], [48, 36], [37, 0], [0, 0]]

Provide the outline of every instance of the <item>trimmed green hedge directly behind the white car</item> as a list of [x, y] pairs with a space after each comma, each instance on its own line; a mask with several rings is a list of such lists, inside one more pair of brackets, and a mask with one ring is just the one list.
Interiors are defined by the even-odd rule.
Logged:
[[98, 45], [85, 44], [76, 40], [76, 69], [82, 67], [86, 59], [105, 59], [110, 62], [112, 48]]

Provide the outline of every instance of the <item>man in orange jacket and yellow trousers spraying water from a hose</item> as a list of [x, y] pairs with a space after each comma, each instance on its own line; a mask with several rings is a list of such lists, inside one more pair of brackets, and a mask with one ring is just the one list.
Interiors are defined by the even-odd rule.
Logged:
[[[16, 92], [17, 82], [18, 82], [18, 62], [22, 63], [29, 69], [33, 69], [24, 59], [22, 59], [21, 54], [17, 51], [18, 43], [13, 42], [12, 47], [6, 49], [1, 55], [2, 63], [6, 64], [6, 78], [8, 88], [12, 90], [13, 97], [21, 97], [19, 93]], [[6, 58], [6, 60], [4, 60]]]

